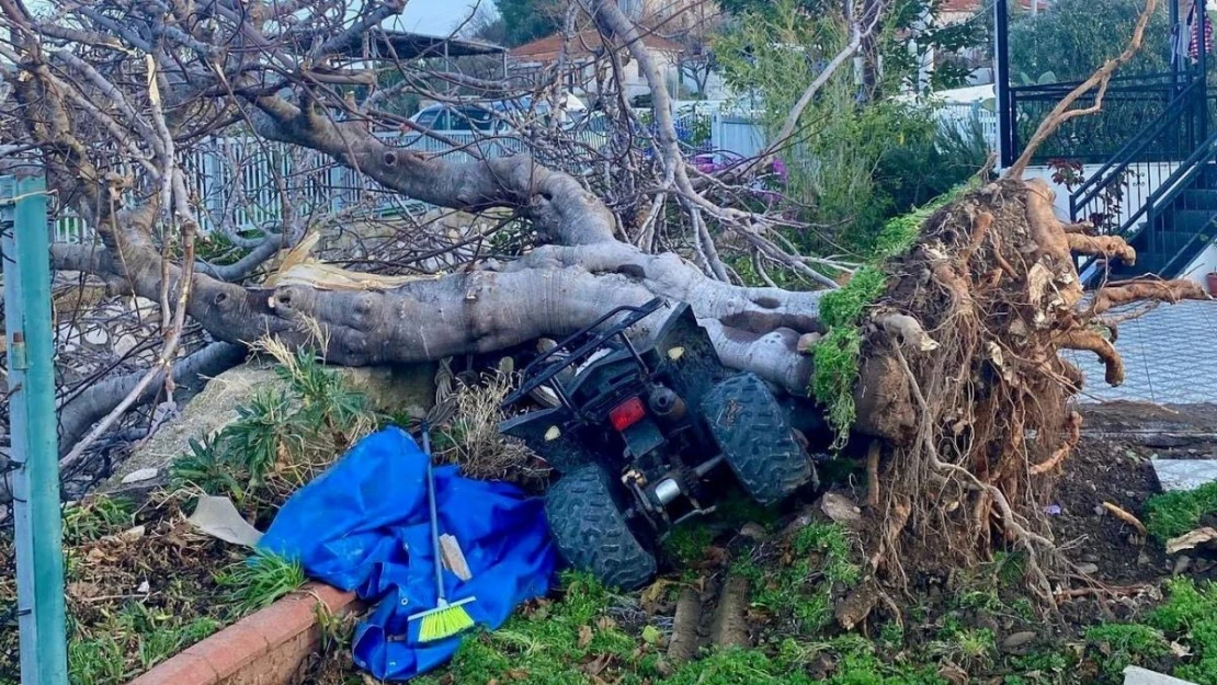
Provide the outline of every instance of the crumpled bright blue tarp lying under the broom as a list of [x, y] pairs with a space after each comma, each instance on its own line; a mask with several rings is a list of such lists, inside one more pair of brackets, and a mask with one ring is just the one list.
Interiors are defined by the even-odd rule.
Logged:
[[[449, 601], [495, 629], [520, 602], [543, 596], [556, 554], [540, 500], [516, 487], [437, 467], [439, 532], [456, 538], [472, 571], [444, 573]], [[460, 636], [419, 644], [417, 621], [436, 606], [427, 521], [427, 457], [399, 428], [364, 438], [284, 505], [259, 548], [298, 560], [313, 578], [376, 602], [355, 629], [355, 663], [382, 680], [406, 680], [445, 663]]]

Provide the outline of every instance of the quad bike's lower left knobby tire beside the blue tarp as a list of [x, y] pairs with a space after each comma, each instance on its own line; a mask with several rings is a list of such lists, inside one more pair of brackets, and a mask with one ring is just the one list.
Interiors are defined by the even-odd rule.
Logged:
[[655, 577], [655, 555], [629, 529], [602, 467], [562, 476], [545, 494], [545, 517], [562, 557], [606, 585], [634, 590]]

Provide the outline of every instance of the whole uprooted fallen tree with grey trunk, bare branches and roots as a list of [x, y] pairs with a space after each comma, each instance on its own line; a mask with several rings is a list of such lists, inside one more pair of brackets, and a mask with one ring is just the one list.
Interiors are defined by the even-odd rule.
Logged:
[[[13, 33], [12, 44], [0, 46], [11, 62], [0, 68], [15, 102], [6, 117], [19, 123], [12, 142], [38, 152], [50, 186], [96, 228], [102, 243], [56, 245], [55, 266], [117, 279], [161, 303], [162, 352], [130, 386], [129, 398], [162, 382], [178, 358], [186, 318], [218, 341], [271, 336], [291, 347], [315, 347], [333, 364], [371, 365], [562, 336], [612, 307], [655, 296], [690, 303], [728, 365], [787, 392], [808, 392], [819, 360], [809, 343], [831, 335], [821, 316], [825, 291], [744, 285], [723, 251], [820, 285], [835, 285], [828, 273], [854, 269], [797, 254], [783, 242], [779, 220], [717, 201], [728, 183], [738, 183], [736, 173], [703, 175], [685, 163], [663, 79], [640, 47], [644, 29], [616, 2], [587, 0], [582, 10], [622, 46], [605, 58], [613, 64], [635, 60], [656, 97], [657, 133], [647, 142], [655, 158], [639, 162], [628, 142], [613, 161], [649, 164], [652, 174], [645, 184], [635, 181], [643, 190], [630, 196], [628, 212], [628, 202], [611, 208], [585, 176], [542, 165], [537, 156], [453, 161], [374, 134], [372, 124], [409, 123], [378, 111], [377, 92], [368, 88], [375, 77], [337, 56], [404, 2], [366, 2], [354, 18], [331, 12], [343, 6], [108, 0], [105, 7], [65, 2], [61, 16], [72, 21], [51, 21], [0, 0]], [[840, 58], [828, 62], [830, 69], [848, 62], [879, 23], [874, 12], [882, 5], [868, 7], [865, 16], [854, 16], [853, 4], [846, 4], [849, 41]], [[1150, 0], [1145, 16], [1152, 7]], [[1129, 52], [1066, 99], [1033, 140], [1078, 116], [1070, 107], [1081, 92], [1106, 88], [1139, 46], [1143, 29], [1144, 21]], [[459, 74], [441, 77], [461, 82]], [[800, 102], [813, 100], [831, 77], [819, 74]], [[403, 83], [425, 88], [417, 79]], [[797, 123], [798, 112], [790, 120]], [[473, 213], [510, 209], [528, 228], [521, 234], [525, 246], [494, 259], [475, 253], [443, 273], [359, 275], [358, 287], [309, 269], [301, 254], [288, 258], [297, 269], [281, 268], [274, 282], [243, 281], [249, 263], [225, 280], [224, 271], [196, 264], [197, 202], [176, 150], [229, 125], [321, 152], [430, 204]], [[626, 122], [628, 135], [635, 125]], [[543, 147], [559, 136], [549, 133], [554, 137], [538, 139]], [[1056, 219], [1050, 190], [1020, 179], [1030, 153], [1005, 179], [983, 183], [929, 217], [907, 249], [877, 266], [880, 277], [871, 282], [877, 287], [857, 303], [860, 316], [835, 324], [856, 326], [858, 336], [858, 376], [835, 380], [851, 403], [848, 425], [840, 427], [854, 440], [876, 440], [868, 554], [874, 569], [896, 582], [907, 565], [974, 563], [1013, 545], [1028, 551], [1033, 586], [1050, 600], [1049, 577], [1060, 561], [1044, 554], [1053, 543], [1038, 504], [1077, 440], [1079, 419], [1069, 400], [1083, 382], [1059, 350], [1098, 354], [1106, 381], [1118, 383], [1118, 354], [1097, 330], [1110, 324], [1104, 311], [1129, 302], [1204, 297], [1188, 282], [1144, 281], [1107, 285], [1086, 299], [1075, 254], [1128, 260], [1134, 253], [1117, 237], [1089, 236]], [[282, 225], [262, 236], [248, 262], [269, 259], [279, 251], [268, 246], [290, 246], [304, 232], [307, 221], [287, 207], [288, 198], [284, 203]], [[481, 246], [489, 237], [458, 236], [447, 249]], [[116, 414], [90, 436], [103, 432]]]

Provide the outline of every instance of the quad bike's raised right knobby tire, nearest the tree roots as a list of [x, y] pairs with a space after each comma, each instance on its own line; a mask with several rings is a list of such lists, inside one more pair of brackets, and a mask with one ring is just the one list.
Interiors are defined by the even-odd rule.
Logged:
[[724, 460], [761, 504], [776, 504], [815, 482], [815, 468], [795, 439], [790, 419], [755, 374], [740, 374], [714, 386], [701, 410]]

